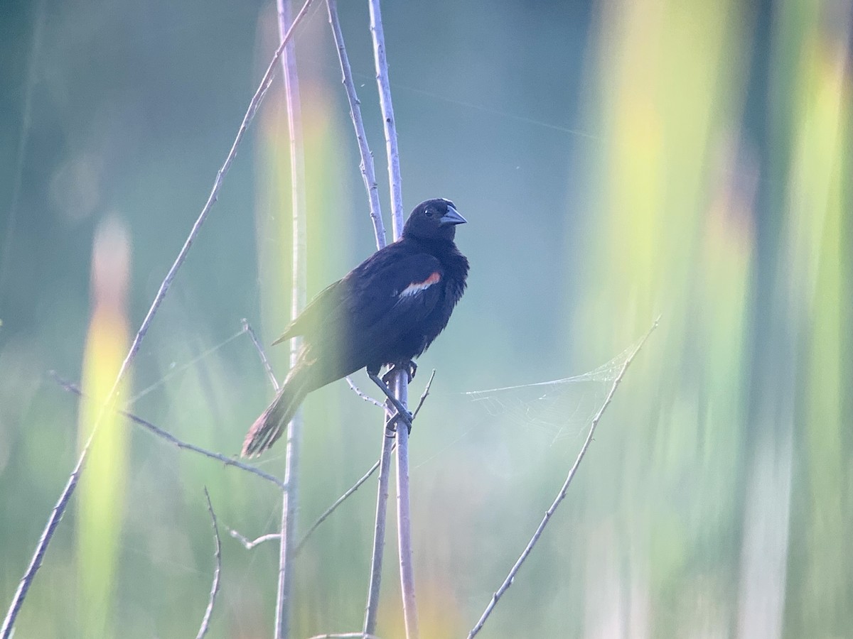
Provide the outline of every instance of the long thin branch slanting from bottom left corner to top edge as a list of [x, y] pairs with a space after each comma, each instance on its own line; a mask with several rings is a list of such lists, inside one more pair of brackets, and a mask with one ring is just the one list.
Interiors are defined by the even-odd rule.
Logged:
[[32, 579], [34, 579], [36, 573], [38, 573], [38, 568], [42, 566], [42, 561], [44, 561], [44, 553], [48, 549], [50, 540], [53, 538], [56, 527], [59, 526], [59, 522], [62, 519], [62, 515], [65, 514], [65, 510], [68, 507], [68, 502], [70, 501], [71, 496], [74, 493], [74, 489], [77, 487], [80, 475], [83, 474], [84, 464], [86, 463], [86, 459], [89, 457], [90, 446], [92, 441], [95, 439], [98, 427], [102, 422], [102, 417], [107, 411], [107, 408], [113, 404], [119, 389], [119, 385], [125, 378], [125, 374], [130, 368], [131, 363], [136, 358], [136, 353], [139, 352], [139, 348], [142, 345], [142, 340], [148, 333], [148, 328], [150, 327], [152, 320], [154, 320], [154, 315], [160, 308], [160, 304], [163, 302], [163, 298], [165, 297], [166, 292], [169, 291], [169, 287], [171, 286], [172, 280], [175, 279], [177, 269], [181, 268], [181, 265], [186, 259], [187, 253], [189, 252], [189, 247], [193, 244], [195, 237], [199, 234], [201, 225], [205, 222], [207, 214], [210, 212], [213, 203], [216, 202], [216, 200], [218, 199], [219, 189], [222, 186], [223, 178], [225, 174], [228, 173], [231, 163], [234, 162], [234, 158], [237, 154], [237, 147], [240, 146], [240, 143], [243, 139], [243, 135], [246, 134], [248, 125], [252, 122], [252, 118], [254, 117], [255, 112], [258, 111], [258, 107], [260, 106], [261, 101], [263, 101], [264, 99], [264, 94], [266, 93], [267, 89], [270, 88], [270, 83], [272, 82], [276, 63], [278, 62], [278, 59], [281, 56], [281, 51], [284, 50], [284, 47], [286, 46], [287, 42], [289, 42], [289, 40], [293, 37], [293, 32], [296, 26], [299, 24], [299, 21], [305, 17], [305, 14], [307, 13], [307, 10], [312, 1], [313, 0], [305, 0], [305, 4], [303, 5], [302, 9], [299, 10], [299, 14], [293, 20], [293, 26], [291, 26], [290, 31], [287, 32], [287, 35], [282, 38], [281, 45], [279, 46], [279, 48], [276, 49], [276, 55], [273, 55], [273, 59], [270, 61], [270, 66], [267, 67], [267, 70], [264, 73], [264, 78], [261, 79], [261, 83], [258, 86], [258, 90], [255, 91], [255, 95], [252, 96], [252, 101], [249, 102], [249, 107], [247, 108], [246, 115], [243, 117], [240, 129], [237, 130], [237, 135], [235, 137], [234, 144], [231, 145], [231, 149], [228, 153], [228, 156], [225, 158], [225, 162], [217, 172], [216, 179], [213, 181], [213, 187], [211, 189], [210, 196], [208, 196], [207, 202], [201, 209], [201, 212], [196, 218], [192, 229], [190, 229], [187, 239], [184, 241], [181, 250], [178, 252], [177, 257], [175, 258], [175, 262], [172, 263], [171, 268], [169, 268], [168, 273], [166, 273], [165, 278], [160, 284], [160, 289], [157, 291], [157, 295], [154, 296], [154, 301], [151, 302], [151, 307], [148, 308], [148, 314], [146, 314], [145, 319], [142, 320], [142, 325], [140, 325], [139, 330], [136, 331], [136, 337], [133, 338], [131, 348], [130, 350], [128, 350], [127, 355], [125, 356], [125, 360], [122, 362], [121, 368], [119, 368], [119, 374], [116, 376], [115, 381], [113, 382], [113, 388], [110, 389], [110, 392], [107, 394], [107, 400], [104, 402], [102, 410], [96, 417], [95, 423], [92, 424], [89, 440], [86, 441], [83, 447], [83, 451], [80, 452], [80, 456], [78, 457], [77, 463], [74, 466], [71, 475], [69, 475], [65, 487], [62, 489], [59, 499], [56, 501], [54, 508], [50, 512], [48, 521], [44, 526], [44, 531], [42, 532], [41, 537], [38, 539], [36, 550], [32, 554], [30, 564], [26, 567], [26, 571], [23, 577], [20, 579], [18, 589], [15, 590], [15, 596], [12, 598], [12, 602], [9, 604], [9, 611], [6, 613], [6, 617], [3, 619], [2, 628], [0, 628], [0, 639], [9, 639], [9, 636], [11, 636], [12, 634], [12, 628], [15, 625], [15, 619], [17, 619], [18, 613], [20, 612], [20, 607], [23, 605], [24, 600], [26, 599], [26, 593], [30, 589]]

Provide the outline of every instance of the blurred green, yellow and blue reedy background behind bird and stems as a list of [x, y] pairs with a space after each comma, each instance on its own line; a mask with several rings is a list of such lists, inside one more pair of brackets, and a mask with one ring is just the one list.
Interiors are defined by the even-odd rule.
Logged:
[[[411, 451], [423, 635], [464, 636], [479, 618], [619, 354], [662, 314], [481, 636], [853, 636], [850, 1], [383, 10], [407, 208], [453, 199], [472, 262], [410, 391], [438, 370]], [[340, 11], [385, 194], [366, 3]], [[312, 295], [374, 242], [323, 3], [304, 27]], [[49, 371], [108, 388], [276, 37], [270, 3], [3, 4], [3, 610], [91, 422]], [[228, 455], [272, 394], [241, 319], [264, 343], [287, 323], [280, 83], [123, 391], [133, 412]], [[287, 349], [269, 354], [282, 377]], [[608, 361], [587, 381], [465, 394]], [[305, 414], [302, 530], [381, 438], [345, 383]], [[283, 446], [260, 465], [281, 475]], [[254, 537], [279, 518], [274, 486], [119, 419], [88, 473], [17, 637], [192, 636], [213, 569], [203, 486], [222, 527]], [[299, 556], [294, 637], [361, 628], [374, 486]], [[395, 544], [384, 637], [402, 633]], [[276, 570], [275, 544], [247, 551], [223, 530], [211, 636], [270, 636]]]

